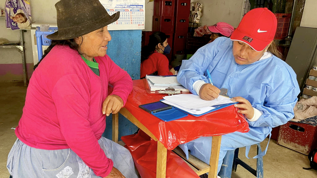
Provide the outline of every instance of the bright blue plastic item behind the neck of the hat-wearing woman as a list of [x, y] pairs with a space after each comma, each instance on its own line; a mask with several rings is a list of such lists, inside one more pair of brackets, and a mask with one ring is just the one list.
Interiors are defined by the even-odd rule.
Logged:
[[40, 61], [43, 56], [42, 46], [51, 45], [51, 40], [46, 38], [46, 36], [55, 33], [56, 31], [58, 31], [58, 27], [49, 27], [49, 31], [40, 31], [40, 27], [36, 27], [35, 36], [37, 42], [36, 45], [38, 61]]

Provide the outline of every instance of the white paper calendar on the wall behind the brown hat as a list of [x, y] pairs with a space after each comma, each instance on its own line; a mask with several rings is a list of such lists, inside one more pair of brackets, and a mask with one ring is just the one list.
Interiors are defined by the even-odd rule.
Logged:
[[109, 15], [120, 11], [120, 18], [108, 30], [144, 29], [145, 0], [99, 0]]

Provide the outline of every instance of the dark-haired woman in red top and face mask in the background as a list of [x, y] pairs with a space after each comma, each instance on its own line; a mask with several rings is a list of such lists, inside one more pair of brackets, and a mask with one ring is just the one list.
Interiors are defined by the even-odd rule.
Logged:
[[167, 41], [167, 35], [156, 31], [149, 37], [149, 43], [141, 50], [141, 76], [159, 75], [172, 76], [175, 70], [169, 70], [169, 59], [164, 54], [169, 54], [171, 47]]

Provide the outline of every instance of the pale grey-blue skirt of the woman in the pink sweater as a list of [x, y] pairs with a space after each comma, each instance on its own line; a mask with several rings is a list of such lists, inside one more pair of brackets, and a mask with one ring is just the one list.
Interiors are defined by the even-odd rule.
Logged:
[[[130, 152], [101, 137], [101, 149], [126, 178], [138, 178]], [[71, 149], [41, 150], [17, 139], [8, 155], [7, 169], [13, 178], [101, 178]]]

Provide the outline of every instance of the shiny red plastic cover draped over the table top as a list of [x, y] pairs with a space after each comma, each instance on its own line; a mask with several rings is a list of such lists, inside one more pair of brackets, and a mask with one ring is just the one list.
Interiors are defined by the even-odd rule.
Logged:
[[235, 131], [248, 132], [249, 125], [233, 105], [215, 112], [165, 122], [139, 108], [139, 105], [158, 102], [165, 94], [148, 94], [143, 80], [133, 80], [133, 90], [125, 108], [136, 117], [167, 148], [173, 150], [179, 144], [187, 143], [201, 136], [216, 136]]

